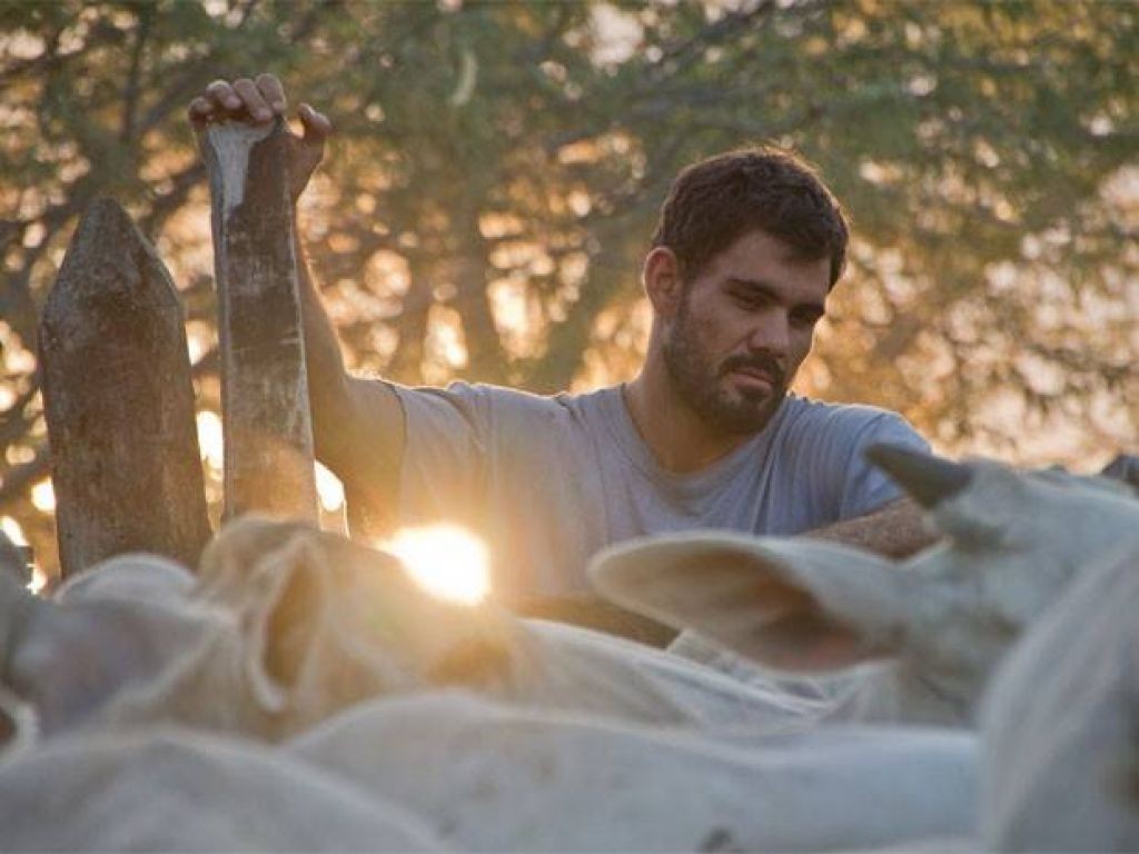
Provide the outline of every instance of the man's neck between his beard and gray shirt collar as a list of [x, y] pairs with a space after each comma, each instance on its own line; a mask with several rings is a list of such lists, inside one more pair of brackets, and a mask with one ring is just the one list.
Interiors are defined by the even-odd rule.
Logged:
[[678, 475], [699, 471], [755, 435], [713, 429], [678, 397], [667, 377], [655, 376], [647, 369], [626, 383], [623, 391], [633, 426], [666, 471]]

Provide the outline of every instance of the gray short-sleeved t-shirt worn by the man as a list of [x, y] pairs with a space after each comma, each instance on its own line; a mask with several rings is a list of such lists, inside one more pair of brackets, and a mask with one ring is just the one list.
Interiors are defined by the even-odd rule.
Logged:
[[597, 550], [645, 534], [797, 534], [862, 516], [900, 493], [861, 451], [928, 450], [894, 412], [792, 395], [746, 444], [678, 475], [657, 465], [620, 386], [552, 397], [466, 383], [392, 388], [407, 425], [401, 520], [486, 537], [506, 596], [588, 590]]

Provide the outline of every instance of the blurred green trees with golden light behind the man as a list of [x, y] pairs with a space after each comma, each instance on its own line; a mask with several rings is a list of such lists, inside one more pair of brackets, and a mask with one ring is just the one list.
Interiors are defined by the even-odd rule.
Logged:
[[302, 220], [354, 369], [539, 392], [629, 378], [669, 181], [770, 140], [820, 166], [855, 230], [800, 391], [899, 409], [950, 453], [1088, 470], [1134, 451], [1137, 17], [1059, 0], [0, 7], [0, 522], [54, 567], [38, 307], [98, 195], [182, 290], [216, 492], [208, 206], [183, 113], [259, 71], [337, 129]]

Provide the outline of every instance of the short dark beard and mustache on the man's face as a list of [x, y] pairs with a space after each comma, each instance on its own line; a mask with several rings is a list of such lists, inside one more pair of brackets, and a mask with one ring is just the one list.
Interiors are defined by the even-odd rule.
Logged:
[[[779, 360], [768, 353], [728, 356], [721, 364], [713, 366], [700, 346], [687, 304], [681, 305], [662, 352], [677, 394], [702, 421], [720, 433], [759, 433], [787, 396], [787, 372]], [[764, 371], [771, 378], [771, 391], [734, 391], [722, 385], [726, 376], [746, 368]]]

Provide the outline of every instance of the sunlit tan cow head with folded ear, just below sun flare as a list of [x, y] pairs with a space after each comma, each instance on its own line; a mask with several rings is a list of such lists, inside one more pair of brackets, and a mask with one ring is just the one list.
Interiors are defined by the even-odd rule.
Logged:
[[259, 703], [290, 725], [386, 690], [477, 682], [505, 660], [493, 608], [434, 599], [391, 555], [304, 525], [228, 526], [200, 577], [202, 598], [238, 617]]

